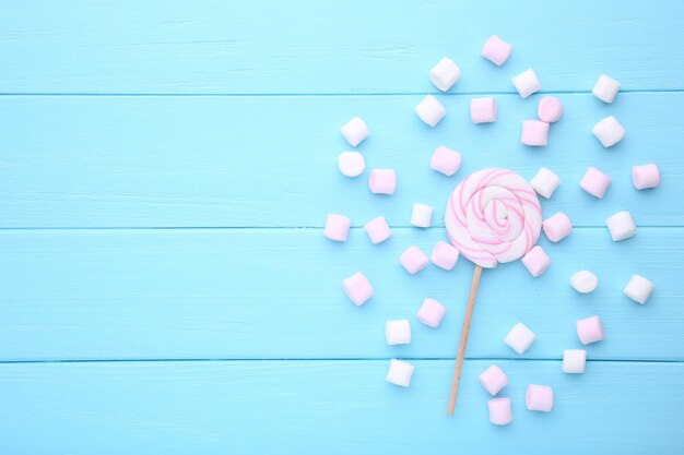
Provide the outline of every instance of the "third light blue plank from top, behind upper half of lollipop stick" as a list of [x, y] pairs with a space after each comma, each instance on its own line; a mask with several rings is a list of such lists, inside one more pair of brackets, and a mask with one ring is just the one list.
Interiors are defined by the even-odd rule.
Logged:
[[[411, 244], [429, 252], [441, 229], [396, 229], [372, 246], [361, 229], [340, 244], [320, 229], [0, 231], [0, 359], [226, 359], [455, 357], [472, 264], [397, 262]], [[482, 276], [469, 358], [519, 358], [502, 339], [519, 321], [538, 335], [526, 358], [581, 347], [575, 321], [599, 314], [606, 339], [593, 359], [684, 360], [683, 228], [642, 228], [613, 243], [606, 229], [542, 240], [551, 268], [520, 262]], [[568, 286], [588, 268], [592, 295]], [[341, 280], [363, 271], [376, 288], [352, 304]], [[632, 274], [656, 284], [646, 306], [622, 294]], [[438, 330], [414, 314], [425, 297], [449, 312]], [[386, 320], [411, 321], [413, 343], [389, 347]]]

